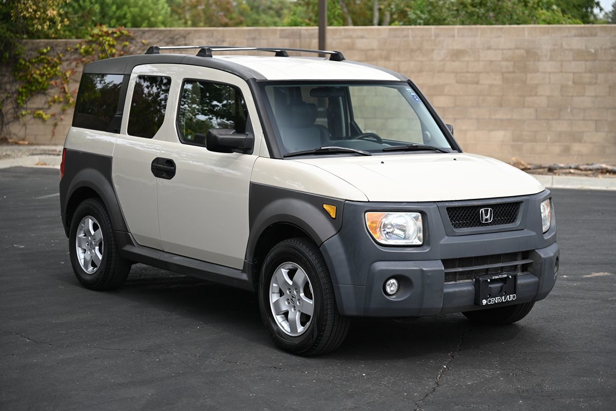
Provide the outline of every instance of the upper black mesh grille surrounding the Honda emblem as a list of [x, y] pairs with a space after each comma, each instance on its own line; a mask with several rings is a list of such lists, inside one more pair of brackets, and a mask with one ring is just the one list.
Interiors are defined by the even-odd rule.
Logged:
[[[492, 205], [474, 205], [462, 207], [447, 207], [447, 216], [455, 229], [468, 229], [471, 227], [502, 226], [513, 224], [517, 220], [520, 211], [520, 202], [500, 203]], [[479, 218], [479, 210], [492, 208], [492, 221], [483, 223]]]

